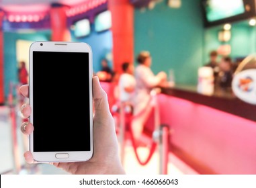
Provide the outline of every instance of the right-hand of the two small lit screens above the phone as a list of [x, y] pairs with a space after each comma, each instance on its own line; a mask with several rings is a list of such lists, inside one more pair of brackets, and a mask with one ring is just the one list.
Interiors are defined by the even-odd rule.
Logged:
[[112, 26], [110, 11], [103, 11], [96, 15], [94, 23], [96, 32], [109, 30]]

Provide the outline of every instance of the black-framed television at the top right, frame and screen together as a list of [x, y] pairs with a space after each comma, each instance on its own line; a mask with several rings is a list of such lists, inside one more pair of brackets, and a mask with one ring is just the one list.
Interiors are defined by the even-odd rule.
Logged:
[[255, 0], [202, 0], [204, 26], [218, 26], [255, 16]]

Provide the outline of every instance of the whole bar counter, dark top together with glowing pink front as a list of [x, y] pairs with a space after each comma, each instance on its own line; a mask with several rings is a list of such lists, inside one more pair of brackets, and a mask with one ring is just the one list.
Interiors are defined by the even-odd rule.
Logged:
[[[112, 87], [103, 87], [112, 102]], [[172, 92], [158, 96], [171, 152], [201, 174], [256, 174], [256, 105]]]

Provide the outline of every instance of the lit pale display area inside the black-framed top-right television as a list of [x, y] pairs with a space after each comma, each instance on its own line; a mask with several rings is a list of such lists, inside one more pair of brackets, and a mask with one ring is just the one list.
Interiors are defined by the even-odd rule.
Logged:
[[206, 1], [206, 17], [208, 21], [216, 21], [245, 13], [243, 0], [208, 0]]

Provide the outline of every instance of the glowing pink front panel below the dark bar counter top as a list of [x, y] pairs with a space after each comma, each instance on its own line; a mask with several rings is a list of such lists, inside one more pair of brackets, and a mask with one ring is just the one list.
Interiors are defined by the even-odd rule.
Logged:
[[256, 122], [163, 94], [159, 105], [172, 144], [201, 173], [256, 174]]

